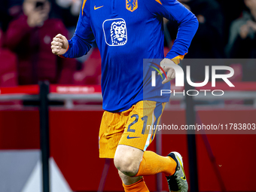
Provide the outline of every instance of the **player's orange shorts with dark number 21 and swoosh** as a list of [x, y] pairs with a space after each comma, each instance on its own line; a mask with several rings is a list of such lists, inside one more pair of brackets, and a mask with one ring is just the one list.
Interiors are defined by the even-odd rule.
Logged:
[[[154, 139], [166, 102], [141, 101], [118, 113], [104, 111], [99, 129], [99, 157], [114, 158], [117, 145], [145, 151]], [[151, 129], [152, 127], [152, 129]]]

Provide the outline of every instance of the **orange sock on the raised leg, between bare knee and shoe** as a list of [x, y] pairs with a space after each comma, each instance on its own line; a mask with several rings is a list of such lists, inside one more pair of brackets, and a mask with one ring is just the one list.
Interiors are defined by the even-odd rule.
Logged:
[[136, 176], [155, 175], [163, 172], [166, 176], [175, 173], [177, 163], [171, 157], [163, 157], [152, 151], [145, 151]]

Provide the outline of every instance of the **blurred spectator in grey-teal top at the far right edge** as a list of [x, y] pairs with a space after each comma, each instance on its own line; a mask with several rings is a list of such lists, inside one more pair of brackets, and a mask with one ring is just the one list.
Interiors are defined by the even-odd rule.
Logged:
[[256, 0], [244, 0], [247, 11], [230, 26], [227, 56], [256, 58]]

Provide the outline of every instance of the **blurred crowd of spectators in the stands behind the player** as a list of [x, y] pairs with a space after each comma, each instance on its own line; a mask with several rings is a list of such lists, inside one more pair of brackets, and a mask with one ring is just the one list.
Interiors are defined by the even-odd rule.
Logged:
[[[186, 58], [256, 57], [256, 0], [179, 0], [200, 26]], [[72, 38], [82, 0], [0, 0], [0, 87], [38, 84], [100, 84], [100, 54], [96, 47], [80, 59], [53, 55], [50, 42], [58, 33]], [[166, 21], [166, 50], [172, 47], [178, 23]], [[233, 68], [236, 81], [256, 81], [256, 63]], [[195, 64], [192, 78], [204, 79]], [[249, 76], [249, 77], [248, 77]]]

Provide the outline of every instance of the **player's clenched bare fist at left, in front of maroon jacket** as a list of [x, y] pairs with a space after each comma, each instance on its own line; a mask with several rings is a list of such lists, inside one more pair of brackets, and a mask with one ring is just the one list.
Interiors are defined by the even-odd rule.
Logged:
[[61, 34], [58, 34], [51, 41], [51, 51], [53, 54], [62, 55], [66, 53], [69, 47], [69, 41], [67, 38]]

